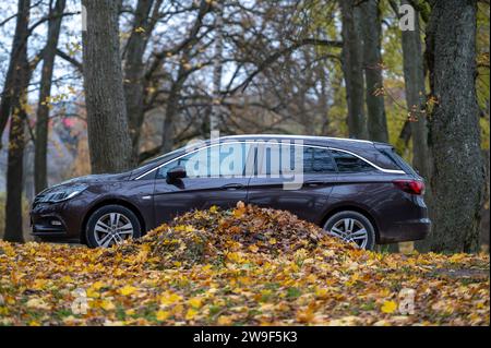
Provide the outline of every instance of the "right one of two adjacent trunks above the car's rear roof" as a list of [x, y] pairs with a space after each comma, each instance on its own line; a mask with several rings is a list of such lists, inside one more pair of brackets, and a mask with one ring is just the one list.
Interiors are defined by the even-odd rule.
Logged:
[[387, 119], [385, 116], [384, 96], [383, 93], [380, 93], [384, 82], [382, 77], [382, 24], [379, 1], [364, 1], [360, 4], [360, 10], [367, 88], [368, 136], [372, 141], [386, 143], [388, 142]]

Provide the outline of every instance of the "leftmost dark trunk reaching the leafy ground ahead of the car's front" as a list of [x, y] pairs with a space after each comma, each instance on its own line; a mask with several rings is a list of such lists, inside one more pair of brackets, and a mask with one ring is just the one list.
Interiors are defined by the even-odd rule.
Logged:
[[29, 82], [29, 64], [27, 61], [27, 36], [29, 22], [29, 0], [19, 1], [17, 23], [12, 44], [11, 64], [12, 74], [11, 96], [12, 105], [9, 110], [2, 110], [10, 118], [9, 154], [7, 164], [7, 202], [5, 231], [3, 238], [8, 241], [24, 241], [22, 230], [22, 188], [24, 170], [24, 125], [26, 91]]

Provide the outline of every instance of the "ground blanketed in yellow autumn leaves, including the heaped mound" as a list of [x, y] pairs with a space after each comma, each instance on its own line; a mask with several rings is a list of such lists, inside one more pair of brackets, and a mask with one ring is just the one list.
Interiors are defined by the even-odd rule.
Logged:
[[0, 241], [0, 325], [489, 325], [489, 255], [369, 252], [212, 207], [108, 250]]

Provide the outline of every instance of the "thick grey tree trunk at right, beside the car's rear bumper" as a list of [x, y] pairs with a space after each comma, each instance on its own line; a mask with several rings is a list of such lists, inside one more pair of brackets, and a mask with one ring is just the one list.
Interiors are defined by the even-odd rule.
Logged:
[[476, 1], [432, 2], [426, 59], [432, 96], [433, 251], [472, 252], [479, 245], [484, 167], [476, 99]]

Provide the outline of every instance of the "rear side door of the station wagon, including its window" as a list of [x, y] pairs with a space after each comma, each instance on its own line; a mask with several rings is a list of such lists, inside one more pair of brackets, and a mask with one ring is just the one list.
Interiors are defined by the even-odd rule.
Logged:
[[[279, 175], [276, 173], [278, 163]], [[337, 180], [327, 148], [258, 144], [258, 176], [249, 182], [249, 203], [286, 209], [313, 223], [321, 221]]]

